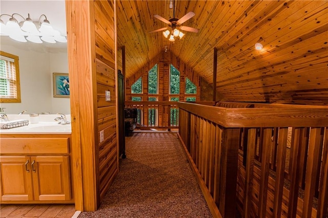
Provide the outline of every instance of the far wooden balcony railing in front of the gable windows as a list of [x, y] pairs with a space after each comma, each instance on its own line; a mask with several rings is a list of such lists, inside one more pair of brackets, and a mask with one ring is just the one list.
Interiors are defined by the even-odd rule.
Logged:
[[179, 126], [176, 101], [126, 101], [125, 107], [137, 108], [137, 128], [171, 129]]

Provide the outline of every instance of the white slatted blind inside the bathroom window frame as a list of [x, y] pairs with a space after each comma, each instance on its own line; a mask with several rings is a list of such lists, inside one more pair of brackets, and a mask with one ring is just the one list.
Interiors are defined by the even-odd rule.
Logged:
[[17, 83], [14, 59], [0, 57], [0, 98], [16, 99]]

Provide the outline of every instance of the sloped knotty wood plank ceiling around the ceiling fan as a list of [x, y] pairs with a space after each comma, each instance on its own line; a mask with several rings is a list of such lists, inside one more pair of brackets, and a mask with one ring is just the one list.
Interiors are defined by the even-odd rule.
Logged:
[[[193, 11], [183, 26], [199, 29], [175, 42], [149, 33], [167, 27], [153, 15], [172, 18], [169, 0], [117, 3], [127, 78], [167, 46], [212, 84], [216, 47], [223, 100], [328, 104], [328, 1], [175, 0], [175, 17]], [[256, 42], [262, 50], [255, 50]]]

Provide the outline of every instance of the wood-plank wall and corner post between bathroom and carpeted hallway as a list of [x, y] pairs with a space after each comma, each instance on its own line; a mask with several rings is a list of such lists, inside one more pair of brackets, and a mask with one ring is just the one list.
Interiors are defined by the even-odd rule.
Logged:
[[118, 173], [115, 1], [66, 1], [66, 12], [75, 207], [94, 211]]

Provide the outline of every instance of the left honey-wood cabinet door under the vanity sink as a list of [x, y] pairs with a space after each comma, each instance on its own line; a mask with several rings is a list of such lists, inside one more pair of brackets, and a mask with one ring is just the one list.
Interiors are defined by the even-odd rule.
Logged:
[[30, 158], [0, 156], [1, 201], [33, 200]]

